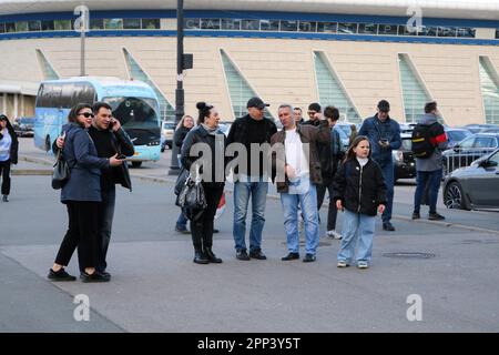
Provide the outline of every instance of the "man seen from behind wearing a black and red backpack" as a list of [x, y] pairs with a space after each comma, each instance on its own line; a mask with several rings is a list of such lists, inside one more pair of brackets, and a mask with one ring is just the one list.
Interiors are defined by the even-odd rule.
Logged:
[[441, 221], [445, 220], [445, 217], [437, 213], [437, 200], [444, 169], [441, 152], [447, 149], [448, 140], [444, 125], [437, 121], [440, 112], [438, 111], [437, 103], [435, 101], [428, 102], [425, 105], [425, 113], [426, 114], [419, 120], [418, 123], [425, 125], [427, 130], [429, 130], [429, 136], [431, 136], [430, 143], [435, 146], [435, 150], [432, 154], [426, 159], [416, 158], [417, 186], [414, 195], [413, 220], [418, 220], [421, 217], [419, 210], [421, 206], [425, 186], [428, 184], [428, 220]]

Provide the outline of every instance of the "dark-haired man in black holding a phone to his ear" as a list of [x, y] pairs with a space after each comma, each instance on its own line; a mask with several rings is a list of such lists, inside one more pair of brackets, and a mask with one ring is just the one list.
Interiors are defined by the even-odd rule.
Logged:
[[[92, 125], [89, 128], [89, 134], [95, 144], [98, 156], [114, 156], [120, 160], [132, 156], [135, 153], [133, 143], [121, 126], [120, 121], [113, 118], [111, 106], [105, 102], [95, 102], [93, 104], [93, 112], [95, 116], [93, 118]], [[58, 148], [62, 148], [64, 136], [60, 136], [55, 144]], [[132, 191], [132, 182], [126, 163], [101, 171], [102, 202], [99, 204], [99, 253], [96, 268], [109, 277], [111, 275], [105, 272], [108, 266], [105, 256], [111, 240], [114, 216], [115, 184], [121, 184], [123, 187]], [[82, 268], [81, 266], [80, 268]]]

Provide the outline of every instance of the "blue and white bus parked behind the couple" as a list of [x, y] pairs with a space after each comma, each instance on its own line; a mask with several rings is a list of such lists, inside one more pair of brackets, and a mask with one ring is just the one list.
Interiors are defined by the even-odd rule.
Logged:
[[109, 103], [134, 146], [134, 166], [160, 160], [160, 104], [147, 84], [118, 78], [77, 77], [48, 80], [40, 84], [35, 103], [34, 145], [49, 151], [78, 103]]

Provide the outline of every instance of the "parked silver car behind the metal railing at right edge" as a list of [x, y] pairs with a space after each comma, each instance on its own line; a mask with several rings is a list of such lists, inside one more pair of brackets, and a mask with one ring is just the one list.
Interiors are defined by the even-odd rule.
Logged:
[[456, 169], [469, 166], [475, 160], [499, 148], [499, 134], [476, 133], [442, 153], [444, 175]]

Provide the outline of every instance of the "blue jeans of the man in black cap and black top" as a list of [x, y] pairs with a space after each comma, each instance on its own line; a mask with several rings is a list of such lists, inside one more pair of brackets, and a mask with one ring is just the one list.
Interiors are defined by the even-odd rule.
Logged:
[[262, 247], [262, 231], [265, 224], [265, 203], [268, 182], [236, 182], [234, 184], [234, 242], [236, 250], [245, 250], [246, 214], [252, 196], [252, 226], [249, 231], [249, 252]]

